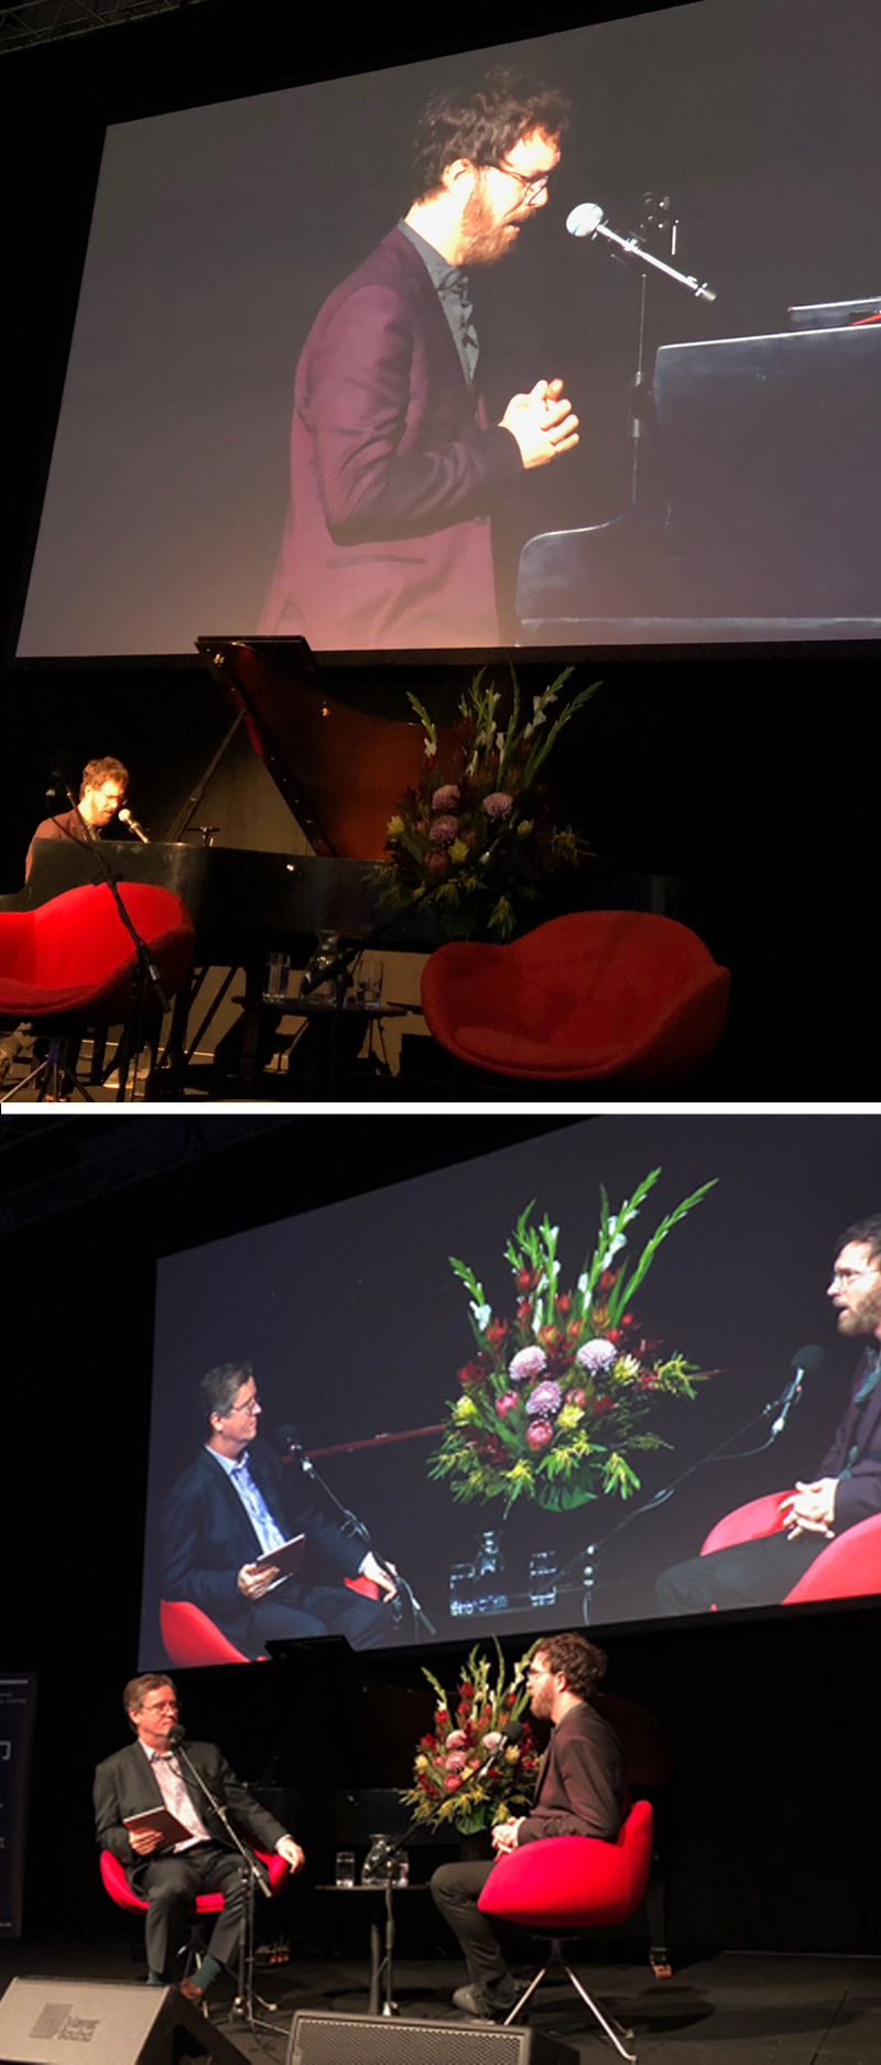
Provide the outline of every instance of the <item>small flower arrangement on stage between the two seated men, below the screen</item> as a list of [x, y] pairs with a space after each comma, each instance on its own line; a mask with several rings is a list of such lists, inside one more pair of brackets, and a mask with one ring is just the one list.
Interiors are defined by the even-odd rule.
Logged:
[[477, 1772], [499, 1747], [505, 1722], [520, 1720], [528, 1699], [526, 1664], [532, 1648], [514, 1666], [510, 1685], [497, 1642], [495, 1683], [491, 1683], [491, 1658], [481, 1656], [477, 1648], [470, 1650], [460, 1671], [456, 1704], [448, 1699], [439, 1679], [423, 1669], [423, 1677], [437, 1693], [437, 1710], [433, 1733], [419, 1741], [413, 1786], [400, 1794], [413, 1809], [415, 1821], [477, 1836], [481, 1828], [508, 1821], [508, 1815], [528, 1807], [539, 1772], [539, 1751], [528, 1724], [520, 1743], [508, 1743], [481, 1780]]

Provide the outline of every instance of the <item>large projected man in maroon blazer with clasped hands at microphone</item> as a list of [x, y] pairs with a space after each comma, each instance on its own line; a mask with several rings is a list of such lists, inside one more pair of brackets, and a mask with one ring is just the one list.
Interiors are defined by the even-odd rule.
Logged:
[[417, 200], [303, 345], [264, 634], [316, 650], [499, 642], [491, 514], [578, 444], [578, 417], [561, 380], [536, 380], [487, 423], [466, 266], [501, 258], [545, 206], [565, 114], [501, 68], [429, 101]]

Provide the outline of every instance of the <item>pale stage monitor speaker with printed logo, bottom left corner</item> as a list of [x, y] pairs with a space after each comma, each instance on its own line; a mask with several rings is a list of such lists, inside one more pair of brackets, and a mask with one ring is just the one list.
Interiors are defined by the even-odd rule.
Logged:
[[76, 1978], [12, 1978], [0, 1999], [2, 2065], [243, 2065], [243, 2053], [177, 1987], [107, 1987]]

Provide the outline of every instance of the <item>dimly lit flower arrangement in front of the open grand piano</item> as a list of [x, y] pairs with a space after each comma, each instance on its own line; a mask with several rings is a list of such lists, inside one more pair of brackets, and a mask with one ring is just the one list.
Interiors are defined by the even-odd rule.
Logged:
[[572, 675], [565, 667], [532, 698], [524, 719], [512, 667], [512, 712], [501, 727], [501, 690], [485, 681], [485, 673], [481, 667], [462, 694], [444, 770], [437, 766], [437, 725], [419, 698], [409, 696], [425, 731], [427, 766], [388, 820], [373, 880], [392, 911], [431, 904], [448, 935], [489, 929], [505, 940], [518, 923], [518, 904], [534, 900], [557, 867], [578, 867], [590, 853], [572, 826], [555, 822], [539, 768], [600, 684], [582, 688], [553, 719], [549, 712]]

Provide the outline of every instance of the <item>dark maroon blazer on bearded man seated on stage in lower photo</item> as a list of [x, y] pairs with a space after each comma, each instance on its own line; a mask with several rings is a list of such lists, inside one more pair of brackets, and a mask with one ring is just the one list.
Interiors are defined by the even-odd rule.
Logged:
[[580, 1702], [551, 1735], [518, 1844], [539, 1842], [541, 1836], [615, 1842], [625, 1807], [621, 1743], [596, 1708]]

